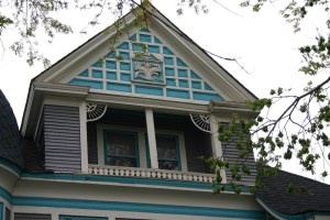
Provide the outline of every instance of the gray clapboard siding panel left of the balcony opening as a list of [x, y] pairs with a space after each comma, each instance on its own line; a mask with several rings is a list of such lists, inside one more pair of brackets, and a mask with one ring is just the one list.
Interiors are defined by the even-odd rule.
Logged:
[[45, 167], [56, 172], [81, 169], [78, 107], [44, 106]]

